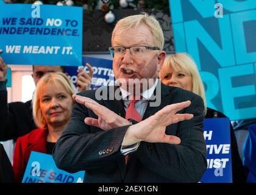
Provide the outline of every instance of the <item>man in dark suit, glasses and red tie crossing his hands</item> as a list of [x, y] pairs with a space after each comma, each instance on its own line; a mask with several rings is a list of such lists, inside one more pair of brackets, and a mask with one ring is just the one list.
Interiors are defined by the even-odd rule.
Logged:
[[196, 94], [157, 79], [163, 43], [152, 16], [118, 21], [110, 52], [119, 87], [73, 96], [73, 116], [53, 151], [57, 167], [85, 170], [84, 182], [201, 179], [207, 167], [204, 104]]

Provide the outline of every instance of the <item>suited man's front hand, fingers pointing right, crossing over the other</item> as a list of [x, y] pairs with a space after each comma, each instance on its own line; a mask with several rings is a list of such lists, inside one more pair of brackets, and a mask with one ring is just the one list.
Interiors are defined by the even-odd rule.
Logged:
[[193, 115], [188, 113], [177, 114], [179, 110], [190, 106], [190, 104], [191, 101], [186, 101], [167, 105], [155, 113], [155, 115], [130, 126], [124, 136], [122, 145], [130, 146], [140, 141], [180, 144], [180, 138], [174, 135], [166, 135], [165, 129], [171, 124], [193, 118]]

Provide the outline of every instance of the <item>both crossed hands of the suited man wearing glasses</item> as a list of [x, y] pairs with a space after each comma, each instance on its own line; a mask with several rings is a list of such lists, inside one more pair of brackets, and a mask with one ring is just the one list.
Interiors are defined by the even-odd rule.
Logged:
[[[73, 95], [73, 98], [79, 104], [84, 104], [85, 107], [91, 109], [98, 116], [98, 119], [85, 118], [84, 122], [88, 126], [96, 126], [102, 130], [109, 130], [115, 127], [130, 125], [130, 121], [127, 121], [103, 105], [98, 104], [93, 99], [76, 94]], [[176, 114], [179, 110], [188, 107], [190, 104], [190, 101], [185, 101], [167, 105], [155, 113], [155, 115], [130, 126], [124, 136], [122, 145], [130, 146], [140, 141], [180, 144], [180, 138], [173, 135], [166, 135], [165, 129], [166, 126], [171, 124], [193, 118], [193, 115], [187, 113]]]

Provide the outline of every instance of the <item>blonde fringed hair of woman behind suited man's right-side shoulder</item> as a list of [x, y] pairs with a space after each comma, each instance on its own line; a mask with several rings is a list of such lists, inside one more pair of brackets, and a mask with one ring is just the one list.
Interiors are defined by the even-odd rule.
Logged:
[[205, 114], [207, 112], [207, 104], [205, 98], [204, 84], [202, 82], [201, 76], [197, 69], [196, 63], [186, 53], [172, 54], [166, 57], [163, 67], [159, 73], [160, 79], [165, 77], [165, 73], [171, 71], [171, 67], [174, 69], [182, 69], [188, 76], [192, 78], [192, 92], [201, 96], [204, 99]]

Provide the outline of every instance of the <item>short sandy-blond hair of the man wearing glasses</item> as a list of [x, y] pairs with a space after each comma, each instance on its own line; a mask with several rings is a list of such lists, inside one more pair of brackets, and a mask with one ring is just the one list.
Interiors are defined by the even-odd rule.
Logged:
[[149, 16], [147, 13], [142, 13], [139, 15], [127, 16], [126, 18], [120, 19], [112, 32], [112, 46], [113, 38], [115, 36], [116, 30], [118, 29], [130, 29], [131, 27], [137, 27], [140, 24], [146, 24], [152, 32], [154, 46], [163, 49], [165, 43], [165, 38], [163, 37], [163, 30], [154, 16]]

